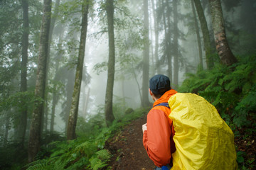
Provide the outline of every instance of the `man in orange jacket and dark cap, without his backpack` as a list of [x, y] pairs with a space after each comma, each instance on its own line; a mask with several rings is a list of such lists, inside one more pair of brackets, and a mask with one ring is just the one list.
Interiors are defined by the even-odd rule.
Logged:
[[[154, 105], [147, 115], [143, 128], [143, 145], [149, 158], [161, 169], [162, 166], [171, 168], [171, 154], [175, 151], [174, 126], [168, 118], [170, 108], [169, 98], [177, 92], [171, 89], [170, 80], [164, 75], [156, 75], [149, 80], [149, 94]], [[158, 106], [166, 103], [166, 106]], [[164, 167], [163, 167], [164, 168]]]

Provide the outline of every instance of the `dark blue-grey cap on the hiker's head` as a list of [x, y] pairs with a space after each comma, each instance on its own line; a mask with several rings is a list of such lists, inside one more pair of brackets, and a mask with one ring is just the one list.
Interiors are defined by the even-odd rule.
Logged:
[[160, 94], [159, 89], [171, 89], [170, 79], [163, 74], [158, 74], [149, 80], [149, 89], [153, 94]]

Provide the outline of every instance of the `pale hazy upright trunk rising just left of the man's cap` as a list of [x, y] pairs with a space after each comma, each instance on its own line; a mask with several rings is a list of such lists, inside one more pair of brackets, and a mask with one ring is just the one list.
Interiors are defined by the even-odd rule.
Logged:
[[142, 65], [142, 107], [150, 106], [149, 103], [149, 4], [144, 0], [144, 50], [143, 50], [143, 65]]

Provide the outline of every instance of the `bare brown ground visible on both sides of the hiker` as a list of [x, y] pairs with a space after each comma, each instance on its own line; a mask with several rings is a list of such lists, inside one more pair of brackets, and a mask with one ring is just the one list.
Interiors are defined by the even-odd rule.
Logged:
[[[114, 170], [153, 170], [154, 163], [149, 159], [142, 144], [142, 125], [146, 123], [146, 115], [125, 126], [117, 135], [106, 144], [107, 149], [114, 155], [109, 166]], [[240, 130], [240, 135], [235, 137], [237, 151], [241, 151], [243, 164], [247, 169], [256, 169], [256, 136], [246, 135]]]

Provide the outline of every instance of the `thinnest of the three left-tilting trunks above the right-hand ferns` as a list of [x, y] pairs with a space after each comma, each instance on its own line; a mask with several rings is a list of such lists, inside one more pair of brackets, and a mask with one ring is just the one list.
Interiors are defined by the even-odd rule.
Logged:
[[195, 22], [195, 28], [196, 28], [196, 38], [197, 38], [197, 42], [198, 42], [198, 54], [199, 54], [198, 71], [201, 71], [201, 70], [203, 70], [202, 45], [201, 45], [201, 38], [200, 38], [200, 34], [199, 34], [198, 21], [196, 19], [196, 10], [195, 10], [193, 0], [191, 0], [191, 7], [192, 7], [193, 18], [194, 18], [194, 22]]

